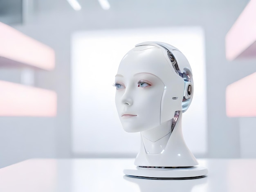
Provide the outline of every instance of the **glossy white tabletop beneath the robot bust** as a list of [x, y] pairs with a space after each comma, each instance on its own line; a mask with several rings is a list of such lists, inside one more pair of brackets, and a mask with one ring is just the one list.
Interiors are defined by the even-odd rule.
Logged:
[[199, 159], [206, 177], [124, 176], [134, 159], [29, 159], [0, 169], [1, 192], [256, 192], [256, 159]]

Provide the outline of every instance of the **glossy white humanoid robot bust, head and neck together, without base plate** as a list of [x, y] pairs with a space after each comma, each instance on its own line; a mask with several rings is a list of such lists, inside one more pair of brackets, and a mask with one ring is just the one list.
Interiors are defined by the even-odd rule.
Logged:
[[198, 165], [182, 136], [182, 113], [193, 98], [193, 78], [188, 60], [177, 48], [163, 42], [136, 45], [121, 60], [115, 86], [124, 130], [141, 133], [135, 165]]

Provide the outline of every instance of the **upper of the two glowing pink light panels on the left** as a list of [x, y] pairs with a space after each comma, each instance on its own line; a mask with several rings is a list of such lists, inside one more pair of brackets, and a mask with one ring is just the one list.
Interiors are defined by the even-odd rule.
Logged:
[[0, 22], [0, 57], [46, 70], [54, 69], [55, 65], [55, 53], [52, 48], [2, 22]]

